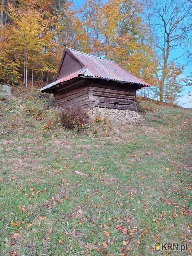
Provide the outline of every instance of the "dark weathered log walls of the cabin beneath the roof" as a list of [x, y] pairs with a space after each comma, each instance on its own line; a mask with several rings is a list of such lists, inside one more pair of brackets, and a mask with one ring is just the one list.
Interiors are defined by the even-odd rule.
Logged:
[[[78, 80], [61, 84], [54, 93], [57, 106], [64, 107], [80, 104], [85, 108], [110, 108], [120, 110], [136, 110], [136, 89], [120, 83], [103, 81], [91, 83], [93, 80]], [[96, 81], [97, 82], [97, 81]]]

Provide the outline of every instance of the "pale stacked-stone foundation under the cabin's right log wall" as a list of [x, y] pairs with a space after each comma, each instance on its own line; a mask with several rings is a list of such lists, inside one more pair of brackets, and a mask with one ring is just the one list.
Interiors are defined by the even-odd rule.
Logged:
[[100, 114], [101, 116], [106, 116], [114, 122], [137, 123], [138, 121], [142, 120], [142, 117], [135, 110], [93, 107], [93, 109], [88, 110], [88, 114], [91, 116]]

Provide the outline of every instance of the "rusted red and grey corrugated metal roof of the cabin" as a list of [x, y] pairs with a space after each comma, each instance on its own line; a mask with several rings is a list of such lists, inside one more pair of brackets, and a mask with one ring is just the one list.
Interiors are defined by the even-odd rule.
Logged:
[[[70, 56], [72, 56], [72, 58], [74, 58], [76, 61], [79, 62], [82, 69], [79, 69], [71, 73], [70, 75], [63, 77], [62, 79], [57, 80], [66, 52], [69, 53]], [[101, 79], [124, 82], [124, 83], [139, 84], [142, 86], [150, 86], [150, 84], [146, 83], [142, 79], [139, 79], [135, 75], [132, 75], [128, 71], [121, 68], [114, 61], [96, 57], [86, 53], [82, 53], [77, 50], [66, 47], [59, 65], [55, 82], [47, 86], [44, 86], [40, 90], [43, 91], [47, 88], [55, 86], [56, 84], [59, 84], [64, 81], [68, 81], [78, 76], [95, 77], [95, 78], [101, 78]]]

